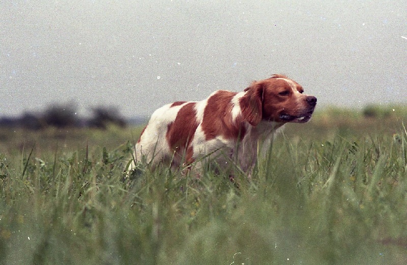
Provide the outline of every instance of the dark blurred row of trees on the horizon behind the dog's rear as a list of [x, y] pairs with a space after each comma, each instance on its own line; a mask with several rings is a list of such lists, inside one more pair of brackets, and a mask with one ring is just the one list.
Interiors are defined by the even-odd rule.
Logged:
[[91, 117], [80, 118], [76, 115], [76, 107], [72, 104], [51, 105], [42, 113], [26, 112], [18, 118], [0, 118], [0, 127], [23, 127], [26, 129], [94, 127], [106, 129], [109, 124], [120, 127], [127, 125], [119, 110], [112, 106], [95, 107], [91, 111]]

